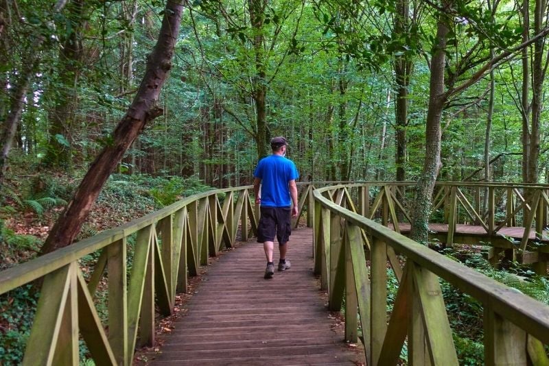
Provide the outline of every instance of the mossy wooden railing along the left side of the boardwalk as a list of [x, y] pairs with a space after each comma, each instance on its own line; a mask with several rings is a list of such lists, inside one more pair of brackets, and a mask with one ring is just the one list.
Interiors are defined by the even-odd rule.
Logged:
[[[131, 365], [137, 346], [154, 344], [155, 307], [170, 315], [176, 293], [187, 291], [187, 276], [196, 276], [223, 247], [255, 234], [259, 210], [251, 188], [193, 195], [1, 271], [0, 295], [43, 282], [23, 365], [78, 365], [79, 334], [96, 365]], [[301, 216], [312, 207], [312, 184], [299, 188]], [[307, 210], [307, 223], [312, 219]], [[84, 257], [86, 269], [89, 258], [97, 258], [86, 276]], [[98, 288], [106, 298], [97, 298]], [[100, 317], [97, 308], [105, 302]]]

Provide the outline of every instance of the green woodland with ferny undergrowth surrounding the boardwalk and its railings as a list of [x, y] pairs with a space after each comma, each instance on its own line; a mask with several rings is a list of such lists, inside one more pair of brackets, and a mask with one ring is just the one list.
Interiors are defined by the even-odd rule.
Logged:
[[[548, 183], [548, 2], [0, 0], [0, 268], [40, 252], [155, 66], [169, 74], [145, 127], [67, 245], [251, 184], [272, 136], [290, 141], [301, 181], [419, 182], [414, 219], [437, 179]], [[180, 29], [161, 31], [179, 10]], [[171, 64], [156, 62], [170, 39]], [[449, 255], [549, 301], [528, 269], [506, 268], [519, 282], [478, 253]], [[482, 363], [482, 308], [443, 291], [460, 362]], [[33, 304], [26, 287], [0, 297], [0, 363], [21, 360]]]

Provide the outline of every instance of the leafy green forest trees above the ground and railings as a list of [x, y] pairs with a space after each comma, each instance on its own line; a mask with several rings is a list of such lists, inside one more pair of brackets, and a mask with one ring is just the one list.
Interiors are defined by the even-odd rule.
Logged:
[[[137, 0], [57, 5], [2, 4], [5, 127], [17, 114], [12, 141], [3, 134], [8, 169], [86, 169], [135, 95], [163, 9]], [[185, 5], [163, 115], [118, 170], [197, 175], [218, 187], [250, 184], [278, 135], [288, 137], [302, 180], [417, 180], [437, 24], [449, 32], [439, 75], [448, 91], [547, 22], [543, 0]], [[493, 160], [489, 180], [546, 182], [547, 51], [540, 38], [443, 101], [440, 180], [482, 180]]]

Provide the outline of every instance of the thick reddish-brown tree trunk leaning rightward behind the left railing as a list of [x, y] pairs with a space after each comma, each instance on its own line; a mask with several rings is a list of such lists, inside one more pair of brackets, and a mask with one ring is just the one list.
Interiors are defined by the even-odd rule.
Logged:
[[41, 254], [70, 245], [80, 231], [110, 173], [117, 167], [139, 132], [163, 112], [156, 105], [162, 85], [172, 69], [183, 3], [166, 3], [159, 39], [148, 57], [145, 75], [126, 115], [113, 132], [113, 143], [104, 147], [80, 182], [71, 202], [49, 232]]

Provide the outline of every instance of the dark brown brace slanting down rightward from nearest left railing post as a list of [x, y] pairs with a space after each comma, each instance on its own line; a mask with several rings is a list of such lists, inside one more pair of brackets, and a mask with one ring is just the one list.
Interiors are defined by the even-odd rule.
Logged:
[[[95, 365], [117, 365], [113, 350], [93, 305], [82, 272], [78, 271], [78, 326]], [[133, 348], [129, 354], [133, 354]]]

